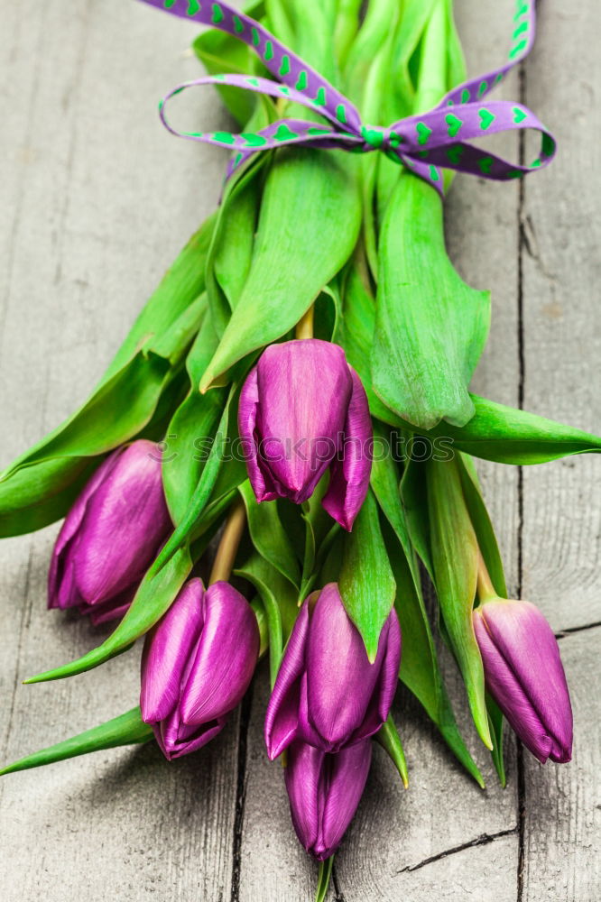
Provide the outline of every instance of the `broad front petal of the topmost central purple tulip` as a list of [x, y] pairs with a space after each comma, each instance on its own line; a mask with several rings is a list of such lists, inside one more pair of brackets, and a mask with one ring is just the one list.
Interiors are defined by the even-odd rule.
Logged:
[[353, 390], [344, 351], [316, 338], [271, 345], [256, 373], [259, 465], [278, 495], [300, 504], [343, 437]]

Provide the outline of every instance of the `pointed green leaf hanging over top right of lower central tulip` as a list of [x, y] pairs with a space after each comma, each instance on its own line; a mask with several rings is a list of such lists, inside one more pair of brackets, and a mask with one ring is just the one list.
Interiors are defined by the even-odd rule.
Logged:
[[338, 588], [347, 614], [365, 642], [367, 657], [373, 663], [380, 633], [393, 607], [396, 584], [371, 490], [352, 532], [344, 538]]

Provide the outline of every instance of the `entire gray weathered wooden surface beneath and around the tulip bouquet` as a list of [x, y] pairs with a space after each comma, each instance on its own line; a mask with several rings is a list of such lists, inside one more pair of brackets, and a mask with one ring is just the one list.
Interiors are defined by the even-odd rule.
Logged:
[[[457, 0], [471, 72], [503, 58], [511, 0]], [[523, 184], [457, 179], [448, 244], [470, 283], [492, 288], [491, 341], [476, 391], [601, 427], [601, 188], [594, 0], [541, 3], [539, 38], [507, 97], [559, 137], [550, 170]], [[156, 101], [199, 69], [195, 29], [129, 0], [0, 0], [0, 465], [78, 405], [163, 270], [217, 201], [224, 156], [163, 132]], [[200, 94], [198, 119], [226, 124]], [[508, 153], [519, 152], [514, 137]], [[526, 152], [528, 149], [526, 148]], [[495, 250], [491, 251], [491, 241]], [[486, 253], [483, 247], [486, 247]], [[539, 766], [507, 739], [501, 790], [449, 685], [482, 792], [404, 693], [396, 719], [405, 792], [379, 750], [337, 856], [329, 902], [601, 898], [601, 479], [598, 457], [536, 468], [480, 465], [515, 594], [561, 635], [575, 709], [569, 766]], [[136, 651], [55, 684], [20, 680], [106, 633], [45, 612], [57, 532], [0, 543], [0, 753], [14, 759], [134, 704]], [[262, 673], [217, 741], [171, 765], [153, 745], [4, 778], [0, 893], [165, 902], [310, 900], [316, 869], [295, 840], [279, 765], [266, 760]]]

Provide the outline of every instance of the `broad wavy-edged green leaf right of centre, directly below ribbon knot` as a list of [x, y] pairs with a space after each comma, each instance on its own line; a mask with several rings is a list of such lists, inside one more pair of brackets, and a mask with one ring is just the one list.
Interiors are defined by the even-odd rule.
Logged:
[[442, 202], [403, 173], [380, 233], [371, 353], [375, 394], [398, 417], [430, 429], [474, 415], [467, 385], [485, 345], [490, 296], [462, 281], [448, 260]]

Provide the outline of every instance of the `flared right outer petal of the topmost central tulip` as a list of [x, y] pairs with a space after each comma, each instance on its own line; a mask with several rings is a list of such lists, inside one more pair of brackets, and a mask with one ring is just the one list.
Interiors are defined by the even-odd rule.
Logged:
[[372, 420], [365, 389], [349, 367], [353, 393], [344, 425], [343, 447], [330, 467], [328, 491], [322, 505], [330, 517], [348, 532], [365, 501], [372, 471]]

